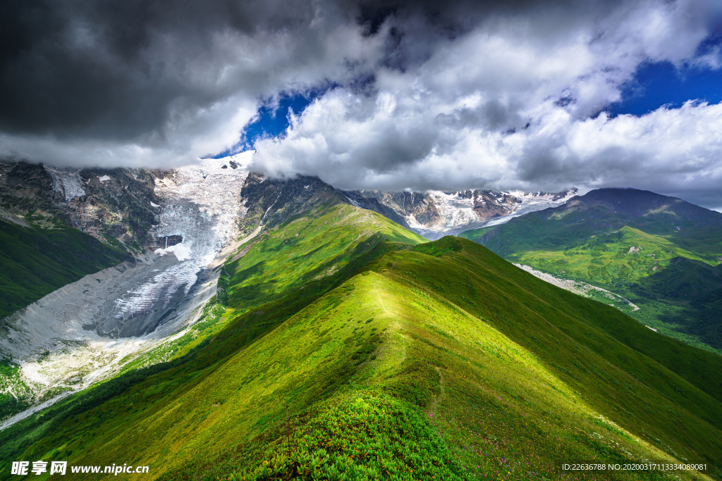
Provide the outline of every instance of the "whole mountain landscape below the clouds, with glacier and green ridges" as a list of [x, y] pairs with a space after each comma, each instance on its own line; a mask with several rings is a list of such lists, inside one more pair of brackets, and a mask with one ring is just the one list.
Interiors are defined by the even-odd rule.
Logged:
[[[722, 215], [635, 190], [349, 192], [247, 165], [63, 183], [8, 164], [34, 172], [0, 177], [8, 225], [97, 250], [2, 321], [0, 478], [43, 459], [161, 480], [665, 479], [563, 468], [657, 461], [722, 479], [708, 327], [675, 331], [700, 349], [508, 262], [692, 319], [719, 300]], [[419, 235], [484, 222], [474, 242]], [[76, 242], [45, 250], [82, 257]]]

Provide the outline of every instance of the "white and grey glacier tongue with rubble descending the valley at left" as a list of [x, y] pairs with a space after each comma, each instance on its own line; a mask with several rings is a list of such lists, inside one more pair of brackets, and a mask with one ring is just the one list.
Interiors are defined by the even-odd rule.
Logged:
[[[0, 392], [16, 392], [34, 407], [0, 424], [30, 415], [48, 392], [74, 392], [115, 375], [124, 363], [179, 335], [214, 294], [206, 269], [238, 235], [245, 208], [240, 189], [251, 154], [207, 159], [157, 181], [161, 198], [157, 237], [183, 236], [181, 244], [149, 254], [147, 262], [123, 263], [87, 275], [3, 319], [0, 357], [19, 364], [19, 378]], [[53, 169], [54, 170], [54, 169]], [[51, 171], [53, 175], [53, 171]], [[84, 195], [77, 172], [53, 175], [53, 188]], [[70, 199], [73, 197], [70, 197]], [[16, 389], [17, 388], [17, 389]], [[44, 404], [44, 405], [45, 405]]]

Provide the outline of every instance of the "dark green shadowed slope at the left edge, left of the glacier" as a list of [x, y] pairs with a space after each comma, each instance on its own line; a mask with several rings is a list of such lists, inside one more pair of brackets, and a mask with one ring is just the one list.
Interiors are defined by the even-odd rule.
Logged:
[[59, 222], [53, 229], [40, 229], [0, 220], [0, 318], [128, 258]]

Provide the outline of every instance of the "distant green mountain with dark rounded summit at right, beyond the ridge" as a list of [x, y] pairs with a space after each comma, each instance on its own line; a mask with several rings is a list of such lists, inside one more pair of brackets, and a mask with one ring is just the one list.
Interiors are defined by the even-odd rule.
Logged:
[[722, 214], [677, 198], [600, 189], [461, 237], [511, 262], [625, 296], [631, 315], [722, 353]]

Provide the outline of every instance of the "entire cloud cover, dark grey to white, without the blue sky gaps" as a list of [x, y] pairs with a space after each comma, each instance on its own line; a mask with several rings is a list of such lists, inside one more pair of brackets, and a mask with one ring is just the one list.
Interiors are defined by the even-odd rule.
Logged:
[[718, 69], [721, 19], [712, 0], [8, 0], [0, 156], [193, 162], [237, 144], [261, 102], [323, 92], [256, 144], [256, 168], [386, 190], [674, 187], [710, 205], [722, 107], [599, 112], [644, 63]]

